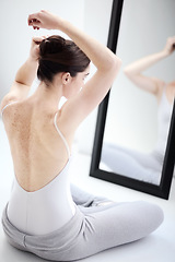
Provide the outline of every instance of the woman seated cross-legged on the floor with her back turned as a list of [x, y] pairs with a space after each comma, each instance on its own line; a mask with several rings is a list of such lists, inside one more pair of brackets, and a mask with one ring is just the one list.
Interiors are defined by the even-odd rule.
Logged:
[[[44, 259], [72, 261], [145, 237], [163, 221], [158, 206], [108, 203], [74, 187], [70, 191], [69, 183], [75, 129], [108, 92], [120, 60], [47, 11], [31, 14], [28, 25], [60, 29], [73, 41], [34, 38], [30, 58], [1, 104], [15, 174], [2, 217], [8, 240]], [[97, 70], [83, 84], [90, 59]], [[36, 71], [40, 84], [27, 97]], [[58, 110], [62, 96], [68, 100]]]

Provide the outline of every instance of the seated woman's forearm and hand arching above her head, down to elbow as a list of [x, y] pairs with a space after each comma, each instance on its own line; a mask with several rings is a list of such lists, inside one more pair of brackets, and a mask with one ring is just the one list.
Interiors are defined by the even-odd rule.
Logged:
[[104, 45], [73, 26], [70, 22], [42, 10], [28, 16], [28, 25], [35, 29], [59, 29], [66, 33], [79, 48], [92, 60], [98, 70], [108, 71], [118, 68], [119, 59]]

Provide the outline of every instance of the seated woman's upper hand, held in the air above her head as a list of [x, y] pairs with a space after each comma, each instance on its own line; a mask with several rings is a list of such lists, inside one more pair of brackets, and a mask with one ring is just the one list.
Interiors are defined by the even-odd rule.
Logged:
[[34, 29], [59, 29], [62, 21], [59, 16], [45, 10], [28, 15], [28, 25]]

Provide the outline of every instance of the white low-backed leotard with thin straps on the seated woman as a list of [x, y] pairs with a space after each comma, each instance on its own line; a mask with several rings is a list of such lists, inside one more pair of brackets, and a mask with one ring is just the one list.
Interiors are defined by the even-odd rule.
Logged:
[[56, 120], [57, 114], [54, 123], [68, 151], [68, 163], [54, 180], [34, 192], [25, 191], [14, 177], [8, 204], [9, 221], [28, 235], [45, 235], [57, 230], [66, 225], [75, 213], [69, 183], [70, 150]]

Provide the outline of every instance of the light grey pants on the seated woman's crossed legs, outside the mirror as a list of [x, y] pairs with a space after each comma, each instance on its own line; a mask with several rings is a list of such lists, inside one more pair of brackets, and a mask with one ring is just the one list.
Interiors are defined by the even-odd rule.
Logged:
[[[9, 242], [52, 261], [73, 261], [148, 236], [163, 221], [162, 210], [143, 201], [112, 203], [72, 187], [75, 215], [62, 228], [43, 236], [19, 231], [8, 219], [2, 225]], [[62, 211], [63, 212], [63, 211]]]

